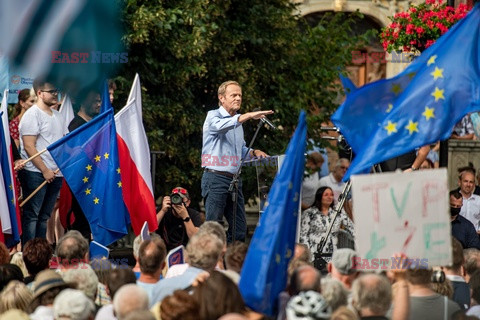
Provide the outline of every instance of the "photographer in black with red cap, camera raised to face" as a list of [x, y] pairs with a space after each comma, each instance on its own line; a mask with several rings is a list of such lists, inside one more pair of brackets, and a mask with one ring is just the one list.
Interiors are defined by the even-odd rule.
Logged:
[[163, 198], [162, 209], [157, 213], [156, 232], [165, 241], [168, 251], [186, 246], [202, 224], [201, 214], [189, 208], [190, 203], [190, 195], [182, 187], [174, 188], [170, 196]]

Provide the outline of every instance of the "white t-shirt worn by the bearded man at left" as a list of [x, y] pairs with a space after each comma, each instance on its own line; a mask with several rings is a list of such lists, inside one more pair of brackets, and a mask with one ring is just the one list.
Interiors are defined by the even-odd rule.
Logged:
[[[37, 141], [35, 147], [37, 151], [42, 151], [66, 134], [66, 126], [63, 123], [61, 114], [52, 109], [52, 115], [42, 111], [36, 104], [29, 108], [22, 117], [19, 125], [20, 131], [20, 154], [23, 159], [30, 156], [25, 151], [23, 146], [23, 136], [36, 136]], [[43, 163], [52, 171], [57, 170], [57, 164], [53, 161], [52, 156], [48, 151], [42, 153], [40, 157]], [[27, 162], [25, 170], [41, 172], [33, 162]], [[57, 177], [62, 176], [57, 173]]]

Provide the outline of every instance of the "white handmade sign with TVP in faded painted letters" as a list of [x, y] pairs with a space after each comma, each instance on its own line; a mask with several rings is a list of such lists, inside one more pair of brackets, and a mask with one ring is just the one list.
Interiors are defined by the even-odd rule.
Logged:
[[450, 264], [446, 169], [353, 176], [352, 195], [359, 269], [388, 269], [395, 253], [420, 267]]

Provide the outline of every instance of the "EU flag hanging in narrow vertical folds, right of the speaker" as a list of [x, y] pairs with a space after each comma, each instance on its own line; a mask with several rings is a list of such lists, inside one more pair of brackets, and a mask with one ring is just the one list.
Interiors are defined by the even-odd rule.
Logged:
[[302, 111], [285, 161], [268, 194], [267, 209], [260, 217], [240, 277], [239, 289], [246, 304], [270, 316], [276, 311], [278, 294], [287, 284], [287, 266], [295, 246], [305, 165], [305, 119]]

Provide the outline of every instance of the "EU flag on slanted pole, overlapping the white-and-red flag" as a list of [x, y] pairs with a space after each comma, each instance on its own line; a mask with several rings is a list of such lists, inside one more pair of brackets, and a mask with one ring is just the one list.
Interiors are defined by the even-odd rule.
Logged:
[[93, 239], [109, 245], [130, 223], [122, 198], [113, 109], [47, 147], [90, 223]]

